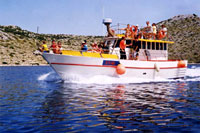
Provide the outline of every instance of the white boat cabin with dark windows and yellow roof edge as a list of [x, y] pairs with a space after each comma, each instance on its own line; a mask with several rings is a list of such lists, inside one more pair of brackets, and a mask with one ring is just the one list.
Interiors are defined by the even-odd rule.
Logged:
[[[105, 38], [105, 43], [109, 46], [109, 54], [116, 54], [120, 58], [120, 41], [119, 37]], [[130, 60], [138, 53], [138, 60], [168, 60], [168, 45], [172, 43], [174, 42], [127, 38], [126, 45], [132, 44], [132, 46], [126, 47], [126, 57]]]

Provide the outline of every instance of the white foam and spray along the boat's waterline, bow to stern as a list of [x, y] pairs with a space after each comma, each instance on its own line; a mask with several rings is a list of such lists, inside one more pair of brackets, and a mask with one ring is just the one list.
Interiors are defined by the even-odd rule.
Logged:
[[[60, 79], [54, 72], [49, 72], [38, 77], [38, 80], [57, 81]], [[91, 77], [83, 77], [82, 75], [65, 75], [65, 83], [80, 84], [128, 84], [128, 83], [150, 83], [150, 82], [186, 82], [200, 81], [200, 68], [193, 66], [188, 68], [186, 78], [184, 79], [163, 79], [157, 77], [155, 79], [127, 78], [127, 77], [111, 77], [105, 75], [94, 75]]]

